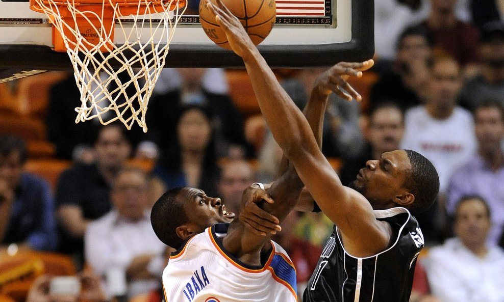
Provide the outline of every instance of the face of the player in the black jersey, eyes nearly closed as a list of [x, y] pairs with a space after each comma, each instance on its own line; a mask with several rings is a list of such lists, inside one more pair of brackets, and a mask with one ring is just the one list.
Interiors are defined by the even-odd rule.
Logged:
[[411, 163], [404, 150], [382, 154], [379, 160], [368, 160], [351, 187], [369, 200], [375, 210], [389, 208], [396, 196], [404, 193], [404, 183]]

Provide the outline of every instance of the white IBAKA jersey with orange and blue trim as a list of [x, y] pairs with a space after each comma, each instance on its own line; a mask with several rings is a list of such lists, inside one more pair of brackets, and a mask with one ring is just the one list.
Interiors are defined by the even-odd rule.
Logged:
[[273, 249], [264, 266], [226, 252], [215, 225], [172, 253], [163, 271], [166, 302], [295, 302], [296, 271], [284, 249]]

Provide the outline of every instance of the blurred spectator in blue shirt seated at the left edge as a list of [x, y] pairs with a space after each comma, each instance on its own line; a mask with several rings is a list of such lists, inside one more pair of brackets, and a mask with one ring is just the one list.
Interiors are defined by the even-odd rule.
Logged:
[[23, 171], [26, 143], [14, 135], [0, 135], [0, 252], [17, 249], [52, 251], [57, 232], [54, 200], [49, 184]]

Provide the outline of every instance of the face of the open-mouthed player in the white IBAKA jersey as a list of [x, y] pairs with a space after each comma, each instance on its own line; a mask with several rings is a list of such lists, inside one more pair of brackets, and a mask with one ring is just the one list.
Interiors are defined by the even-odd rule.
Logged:
[[226, 211], [220, 198], [209, 197], [200, 189], [186, 188], [180, 194], [186, 201], [189, 223], [199, 226], [201, 232], [218, 223], [230, 223], [235, 217], [234, 213]]

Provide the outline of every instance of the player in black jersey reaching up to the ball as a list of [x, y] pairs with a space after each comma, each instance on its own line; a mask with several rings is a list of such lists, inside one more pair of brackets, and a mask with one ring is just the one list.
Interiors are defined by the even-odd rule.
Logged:
[[[240, 21], [220, 2], [207, 7], [226, 33], [230, 46], [243, 59], [261, 112], [275, 141], [294, 165], [316, 205], [335, 224], [319, 266], [305, 291], [305, 301], [408, 301], [416, 257], [423, 236], [410, 213], [432, 205], [439, 177], [432, 163], [409, 150], [369, 160], [352, 187], [341, 184], [319, 150], [306, 118], [276, 80]], [[356, 76], [373, 61], [347, 63]], [[332, 92], [347, 100], [355, 91], [344, 77], [330, 76], [332, 67], [312, 92], [327, 102]], [[329, 73], [329, 76], [327, 76]], [[323, 89], [320, 89], [322, 87]], [[344, 91], [347, 92], [344, 92]], [[360, 97], [358, 97], [359, 100]], [[303, 195], [306, 196], [306, 195]]]

